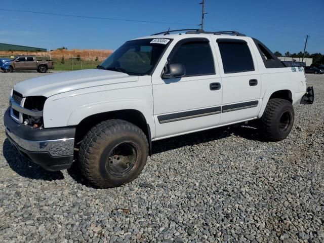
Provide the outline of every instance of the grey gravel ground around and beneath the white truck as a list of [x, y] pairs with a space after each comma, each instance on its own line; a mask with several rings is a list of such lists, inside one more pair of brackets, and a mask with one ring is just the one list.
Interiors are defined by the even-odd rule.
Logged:
[[[44, 74], [0, 73], [13, 85]], [[324, 242], [324, 75], [296, 105], [290, 136], [262, 141], [236, 125], [153, 143], [142, 174], [95, 189], [73, 170], [47, 172], [0, 141], [0, 241]]]

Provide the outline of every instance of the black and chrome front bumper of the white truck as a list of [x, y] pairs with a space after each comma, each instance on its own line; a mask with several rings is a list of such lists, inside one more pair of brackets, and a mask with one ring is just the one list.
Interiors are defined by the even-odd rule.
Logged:
[[75, 128], [33, 129], [11, 118], [10, 109], [4, 116], [9, 141], [26, 158], [48, 171], [70, 168], [73, 161]]

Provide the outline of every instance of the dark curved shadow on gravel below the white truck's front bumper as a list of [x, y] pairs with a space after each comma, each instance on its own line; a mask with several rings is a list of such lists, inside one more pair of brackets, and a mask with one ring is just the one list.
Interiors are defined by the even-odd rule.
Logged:
[[8, 139], [6, 139], [3, 144], [3, 154], [9, 167], [22, 177], [45, 181], [64, 179], [62, 172], [46, 171], [42, 167], [23, 157], [18, 150], [11, 145]]

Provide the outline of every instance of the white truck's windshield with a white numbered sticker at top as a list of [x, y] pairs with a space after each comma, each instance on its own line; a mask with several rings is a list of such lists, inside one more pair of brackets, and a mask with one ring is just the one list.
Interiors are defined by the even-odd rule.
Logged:
[[136, 39], [126, 42], [101, 63], [98, 68], [125, 72], [129, 75], [150, 74], [170, 44], [170, 39], [165, 40], [167, 41], [163, 43], [151, 43], [153, 39]]

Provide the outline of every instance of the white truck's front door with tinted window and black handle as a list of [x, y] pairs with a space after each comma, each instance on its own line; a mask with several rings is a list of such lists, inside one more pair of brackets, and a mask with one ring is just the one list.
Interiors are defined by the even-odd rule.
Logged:
[[[155, 139], [199, 131], [218, 125], [222, 80], [208, 38], [187, 38], [170, 46], [152, 75]], [[163, 79], [165, 64], [181, 63], [186, 74]]]

